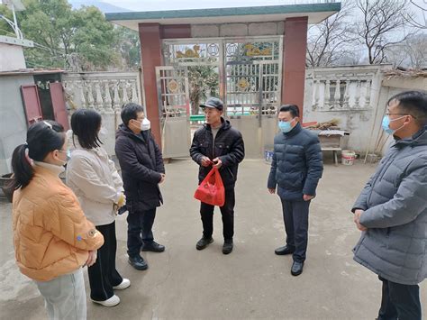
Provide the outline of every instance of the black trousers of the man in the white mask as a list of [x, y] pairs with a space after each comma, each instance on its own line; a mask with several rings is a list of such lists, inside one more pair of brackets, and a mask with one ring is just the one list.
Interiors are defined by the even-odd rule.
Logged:
[[130, 257], [140, 254], [144, 242], [154, 241], [152, 227], [155, 217], [156, 208], [128, 214], [128, 255]]

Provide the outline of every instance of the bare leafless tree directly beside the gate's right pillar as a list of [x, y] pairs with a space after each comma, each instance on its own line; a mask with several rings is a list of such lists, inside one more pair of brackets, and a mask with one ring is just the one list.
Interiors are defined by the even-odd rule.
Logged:
[[340, 12], [309, 28], [307, 66], [328, 67], [350, 55], [351, 44], [357, 39], [353, 25], [348, 23], [353, 7], [348, 1]]

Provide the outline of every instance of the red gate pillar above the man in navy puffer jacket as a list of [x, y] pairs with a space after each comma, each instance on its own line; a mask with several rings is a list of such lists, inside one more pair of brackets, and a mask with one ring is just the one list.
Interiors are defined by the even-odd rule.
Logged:
[[308, 17], [285, 21], [282, 66], [282, 105], [298, 105], [301, 118], [304, 109], [305, 55]]

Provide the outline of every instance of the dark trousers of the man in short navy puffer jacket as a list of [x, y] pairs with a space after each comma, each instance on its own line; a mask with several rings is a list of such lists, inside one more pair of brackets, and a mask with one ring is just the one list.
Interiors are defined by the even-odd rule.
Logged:
[[304, 262], [308, 244], [308, 212], [310, 201], [282, 201], [283, 220], [286, 230], [286, 245], [295, 249], [294, 261]]

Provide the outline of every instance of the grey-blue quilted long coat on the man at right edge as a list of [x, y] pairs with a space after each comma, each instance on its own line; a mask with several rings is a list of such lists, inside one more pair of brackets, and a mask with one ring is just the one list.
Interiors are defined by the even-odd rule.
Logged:
[[381, 160], [352, 211], [365, 210], [354, 260], [393, 282], [427, 277], [427, 132], [398, 140]]

